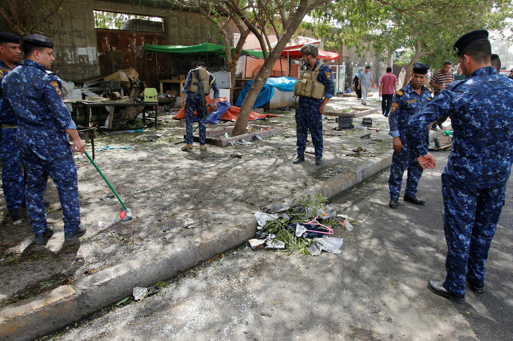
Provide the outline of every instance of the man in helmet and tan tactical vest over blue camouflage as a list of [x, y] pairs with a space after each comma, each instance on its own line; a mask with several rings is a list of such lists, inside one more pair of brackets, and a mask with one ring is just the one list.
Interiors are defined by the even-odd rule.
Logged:
[[315, 164], [320, 166], [323, 152], [322, 114], [326, 103], [333, 97], [335, 86], [330, 68], [317, 59], [317, 46], [306, 44], [300, 52], [304, 67], [300, 80], [294, 84], [294, 96], [299, 96], [298, 108], [295, 111], [298, 157], [292, 163], [305, 161], [306, 137], [310, 130], [315, 150]]

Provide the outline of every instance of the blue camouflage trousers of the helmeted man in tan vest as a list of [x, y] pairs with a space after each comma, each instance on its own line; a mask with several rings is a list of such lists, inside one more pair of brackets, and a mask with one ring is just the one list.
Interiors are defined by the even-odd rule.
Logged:
[[298, 155], [305, 154], [306, 138], [308, 130], [312, 136], [315, 158], [322, 158], [323, 138], [322, 138], [322, 115], [319, 112], [322, 99], [311, 97], [299, 98], [298, 109], [295, 111], [296, 134], [298, 135]]

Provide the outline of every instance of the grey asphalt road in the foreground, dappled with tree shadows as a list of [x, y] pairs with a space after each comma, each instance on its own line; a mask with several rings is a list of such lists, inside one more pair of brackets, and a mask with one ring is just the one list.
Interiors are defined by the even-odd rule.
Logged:
[[[388, 171], [334, 200], [361, 222], [342, 254], [319, 257], [251, 250], [205, 262], [156, 295], [105, 309], [52, 335], [66, 339], [510, 339], [513, 335], [513, 191], [487, 262], [487, 291], [459, 305], [431, 293], [445, 274], [440, 175], [425, 171], [425, 206], [388, 208]], [[403, 183], [404, 188], [404, 183]], [[151, 264], [149, 265], [151, 266]]]

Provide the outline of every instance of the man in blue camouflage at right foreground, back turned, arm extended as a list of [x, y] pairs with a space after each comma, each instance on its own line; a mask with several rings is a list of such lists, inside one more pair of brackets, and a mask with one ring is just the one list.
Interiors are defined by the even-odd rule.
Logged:
[[439, 117], [451, 118], [452, 152], [442, 174], [447, 274], [444, 282], [429, 281], [428, 287], [463, 303], [465, 281], [473, 291], [485, 291], [485, 262], [513, 162], [513, 80], [490, 65], [487, 31], [466, 33], [453, 48], [468, 77], [450, 83], [412, 116], [407, 137], [420, 165], [435, 168], [425, 129]]

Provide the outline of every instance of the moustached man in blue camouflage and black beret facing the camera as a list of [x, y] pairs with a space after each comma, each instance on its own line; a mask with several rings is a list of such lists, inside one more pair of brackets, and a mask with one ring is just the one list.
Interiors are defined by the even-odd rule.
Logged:
[[[408, 177], [406, 180], [406, 189], [404, 191], [404, 201], [409, 201], [417, 205], [424, 205], [424, 200], [419, 200], [416, 196], [417, 185], [422, 176], [422, 167], [417, 158], [411, 154], [408, 142], [406, 141], [406, 124], [411, 115], [418, 112], [424, 105], [431, 100], [431, 93], [424, 86], [426, 74], [429, 65], [426, 63], [413, 64], [413, 73], [411, 81], [403, 88], [398, 90], [392, 99], [392, 106], [388, 123], [390, 125], [390, 136], [393, 137], [393, 155], [392, 165], [390, 166], [390, 177], [388, 178], [388, 188], [390, 189], [391, 208], [397, 208], [401, 183], [403, 182], [403, 173], [408, 168]], [[427, 135], [427, 133], [426, 133]], [[426, 138], [427, 145], [427, 138]]]

